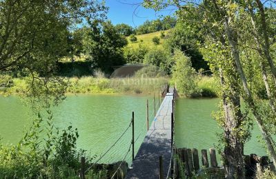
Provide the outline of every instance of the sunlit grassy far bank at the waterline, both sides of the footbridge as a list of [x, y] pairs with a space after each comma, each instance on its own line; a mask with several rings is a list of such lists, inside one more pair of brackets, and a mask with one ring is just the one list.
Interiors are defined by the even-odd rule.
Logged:
[[[65, 78], [67, 93], [71, 94], [153, 94], [157, 93], [169, 78], [95, 78], [92, 76]], [[10, 78], [5, 87], [0, 86], [0, 94], [19, 94], [28, 89], [26, 79]], [[7, 85], [8, 84], [8, 85]], [[177, 85], [177, 84], [176, 84]], [[197, 82], [196, 93], [192, 97], [217, 97], [219, 84], [214, 77], [202, 76]], [[179, 96], [184, 94], [179, 92]]]

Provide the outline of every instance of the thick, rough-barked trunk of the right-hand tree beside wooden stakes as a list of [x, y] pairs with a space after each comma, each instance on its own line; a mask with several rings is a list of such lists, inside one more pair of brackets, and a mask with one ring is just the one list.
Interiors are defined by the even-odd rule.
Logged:
[[[221, 85], [225, 86], [222, 70], [219, 69]], [[244, 176], [244, 143], [235, 131], [239, 129], [242, 122], [242, 112], [240, 110], [239, 93], [236, 93], [237, 85], [230, 84], [232, 93], [223, 92], [222, 100], [224, 106], [224, 139], [226, 146], [224, 147], [224, 167], [226, 169], [226, 178], [245, 178]]]

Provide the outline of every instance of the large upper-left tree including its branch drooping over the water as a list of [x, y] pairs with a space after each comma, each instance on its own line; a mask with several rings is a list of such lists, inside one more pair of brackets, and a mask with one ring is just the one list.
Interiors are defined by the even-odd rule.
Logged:
[[70, 56], [70, 31], [105, 13], [103, 3], [89, 0], [0, 1], [0, 73], [30, 76], [24, 94], [31, 102], [59, 101], [66, 82], [52, 75], [57, 61]]

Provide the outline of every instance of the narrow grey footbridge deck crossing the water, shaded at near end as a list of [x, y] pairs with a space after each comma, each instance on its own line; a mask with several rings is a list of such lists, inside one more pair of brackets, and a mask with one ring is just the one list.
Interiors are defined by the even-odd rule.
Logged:
[[170, 176], [172, 157], [172, 100], [173, 89], [170, 89], [162, 101], [157, 114], [141, 144], [135, 160], [126, 178], [159, 178], [159, 157], [163, 157], [161, 168], [164, 178]]

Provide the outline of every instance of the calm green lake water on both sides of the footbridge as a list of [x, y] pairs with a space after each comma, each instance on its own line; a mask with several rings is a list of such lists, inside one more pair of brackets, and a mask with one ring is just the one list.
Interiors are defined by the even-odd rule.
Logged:
[[[66, 101], [52, 109], [55, 125], [60, 129], [69, 125], [77, 127], [79, 138], [77, 147], [86, 149], [91, 155], [100, 156], [130, 124], [132, 111], [135, 112], [135, 152], [146, 134], [146, 100], [150, 101], [150, 114], [153, 112], [152, 97], [127, 95], [68, 96]], [[176, 105], [177, 147], [209, 149], [217, 145], [216, 132], [220, 131], [210, 116], [217, 109], [218, 99], [178, 99]], [[0, 96], [0, 136], [1, 143], [17, 143], [23, 131], [30, 125], [34, 116], [30, 109], [22, 105], [17, 96]], [[152, 119], [152, 118], [151, 118]], [[245, 154], [259, 156], [266, 152], [257, 142], [258, 129], [253, 130], [251, 140], [246, 144]], [[131, 129], [119, 140], [101, 162], [122, 160], [131, 141]], [[130, 162], [131, 152], [126, 157]]]

